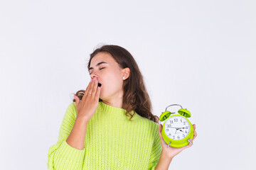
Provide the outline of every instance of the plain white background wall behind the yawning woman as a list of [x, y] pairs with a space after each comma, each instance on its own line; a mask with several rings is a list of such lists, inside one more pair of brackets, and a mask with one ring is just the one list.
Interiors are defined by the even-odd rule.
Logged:
[[71, 94], [86, 88], [89, 55], [102, 43], [132, 53], [155, 115], [173, 103], [191, 111], [198, 137], [169, 169], [252, 168], [255, 7], [245, 0], [1, 1], [0, 169], [47, 169]]

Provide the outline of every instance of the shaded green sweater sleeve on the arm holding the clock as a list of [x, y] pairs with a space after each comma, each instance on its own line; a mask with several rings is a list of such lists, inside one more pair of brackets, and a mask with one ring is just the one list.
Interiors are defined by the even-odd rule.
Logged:
[[151, 149], [148, 170], [154, 170], [156, 168], [156, 164], [159, 162], [159, 159], [161, 156], [161, 150], [162, 150], [161, 140], [158, 133], [159, 125], [156, 124], [155, 127], [156, 128], [154, 130], [154, 142]]

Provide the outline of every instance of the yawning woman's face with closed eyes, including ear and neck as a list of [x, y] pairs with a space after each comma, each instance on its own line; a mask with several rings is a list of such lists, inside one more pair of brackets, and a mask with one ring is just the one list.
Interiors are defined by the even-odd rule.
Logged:
[[90, 78], [96, 77], [100, 87], [102, 101], [121, 100], [123, 96], [124, 69], [121, 69], [112, 55], [107, 52], [99, 52], [92, 57], [89, 69]]

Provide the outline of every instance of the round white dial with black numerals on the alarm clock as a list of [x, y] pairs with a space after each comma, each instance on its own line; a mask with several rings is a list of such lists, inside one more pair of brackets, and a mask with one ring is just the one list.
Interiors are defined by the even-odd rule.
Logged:
[[188, 135], [189, 130], [188, 120], [179, 115], [171, 116], [164, 125], [164, 132], [172, 140], [183, 140]]

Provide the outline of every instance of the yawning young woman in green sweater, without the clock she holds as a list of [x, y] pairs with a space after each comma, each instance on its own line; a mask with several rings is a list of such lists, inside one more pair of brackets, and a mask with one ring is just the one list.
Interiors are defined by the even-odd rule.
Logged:
[[48, 169], [163, 170], [191, 147], [167, 147], [142, 74], [126, 49], [97, 48], [87, 67], [91, 81], [65, 112], [58, 142], [48, 151]]

